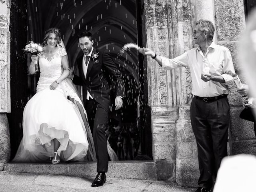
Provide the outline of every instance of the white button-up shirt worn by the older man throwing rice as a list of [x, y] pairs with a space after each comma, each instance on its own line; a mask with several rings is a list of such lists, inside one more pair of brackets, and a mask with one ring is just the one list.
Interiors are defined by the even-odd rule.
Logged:
[[[232, 58], [228, 48], [220, 45], [210, 44], [204, 55], [201, 48], [188, 50], [174, 59], [162, 59], [162, 68], [165, 70], [179, 67], [190, 68], [192, 78], [192, 94], [200, 97], [214, 97], [228, 94], [228, 85], [234, 83], [232, 75], [235, 74]], [[201, 79], [203, 71], [212, 75], [221, 75], [225, 83], [216, 81], [204, 82]]]

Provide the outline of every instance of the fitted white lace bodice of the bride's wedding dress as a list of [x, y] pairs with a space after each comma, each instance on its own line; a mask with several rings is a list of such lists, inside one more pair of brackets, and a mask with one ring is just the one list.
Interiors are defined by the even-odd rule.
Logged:
[[43, 90], [57, 80], [62, 72], [62, 57], [65, 56], [66, 50], [59, 48], [52, 54], [39, 54], [40, 78], [37, 84], [36, 91]]

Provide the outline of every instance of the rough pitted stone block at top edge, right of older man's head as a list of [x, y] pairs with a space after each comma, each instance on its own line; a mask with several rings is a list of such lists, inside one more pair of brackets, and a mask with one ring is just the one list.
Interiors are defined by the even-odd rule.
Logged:
[[245, 28], [243, 0], [214, 0], [219, 41], [237, 41]]

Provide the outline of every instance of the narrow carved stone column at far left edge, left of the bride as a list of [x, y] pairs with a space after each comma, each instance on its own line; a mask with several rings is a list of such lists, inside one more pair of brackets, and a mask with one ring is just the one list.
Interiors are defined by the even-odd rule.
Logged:
[[0, 0], [0, 171], [10, 158], [10, 1]]

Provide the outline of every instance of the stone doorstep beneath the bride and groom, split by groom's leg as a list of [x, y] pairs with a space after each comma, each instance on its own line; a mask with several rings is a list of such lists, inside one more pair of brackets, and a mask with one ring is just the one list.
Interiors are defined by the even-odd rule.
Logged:
[[[54, 174], [78, 177], [95, 177], [96, 162], [72, 163], [6, 163], [4, 171], [32, 174]], [[155, 163], [146, 161], [110, 161], [108, 177], [120, 179], [157, 180]]]

